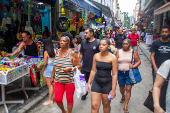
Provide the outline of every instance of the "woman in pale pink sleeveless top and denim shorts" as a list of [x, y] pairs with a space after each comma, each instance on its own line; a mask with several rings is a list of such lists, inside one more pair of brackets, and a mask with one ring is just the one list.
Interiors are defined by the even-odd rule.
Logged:
[[141, 63], [138, 52], [134, 51], [133, 61], [135, 61], [135, 65], [131, 64], [133, 50], [130, 49], [130, 45], [131, 45], [131, 41], [129, 39], [125, 39], [123, 41], [123, 49], [120, 49], [116, 52], [116, 57], [118, 58], [118, 84], [120, 87], [120, 93], [122, 94], [120, 103], [125, 102], [125, 105], [123, 108], [124, 113], [129, 113], [127, 109], [127, 105], [128, 105], [128, 102], [131, 96], [131, 88], [133, 85], [130, 82], [129, 69], [136, 68]]

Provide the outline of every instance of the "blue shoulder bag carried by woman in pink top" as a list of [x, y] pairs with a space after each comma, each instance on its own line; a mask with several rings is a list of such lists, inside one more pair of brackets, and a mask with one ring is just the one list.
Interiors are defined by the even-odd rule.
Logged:
[[[134, 50], [132, 51], [132, 60], [131, 60], [131, 64], [133, 62], [133, 56], [134, 56]], [[134, 63], [135, 64], [135, 63]], [[133, 65], [134, 65], [133, 64]], [[138, 67], [137, 68], [134, 68], [134, 69], [129, 69], [129, 77], [130, 77], [130, 82], [132, 84], [136, 84], [140, 81], [142, 81], [142, 77], [140, 75], [140, 72], [139, 72], [139, 69]]]

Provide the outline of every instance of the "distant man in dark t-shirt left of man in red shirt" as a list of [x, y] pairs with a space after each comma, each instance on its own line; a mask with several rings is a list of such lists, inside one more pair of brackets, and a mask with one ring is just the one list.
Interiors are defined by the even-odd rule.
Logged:
[[114, 44], [115, 47], [119, 50], [122, 49], [122, 44], [123, 44], [123, 40], [126, 39], [126, 36], [122, 33], [123, 32], [123, 28], [120, 28], [118, 33], [115, 34], [115, 38], [114, 38]]

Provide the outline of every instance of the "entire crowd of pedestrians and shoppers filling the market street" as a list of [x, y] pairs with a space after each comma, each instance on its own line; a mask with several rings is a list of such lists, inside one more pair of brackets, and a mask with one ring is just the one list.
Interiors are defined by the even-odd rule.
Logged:
[[[10, 29], [10, 27], [9, 27]], [[153, 41], [151, 46], [151, 61], [153, 75], [153, 107], [155, 113], [170, 113], [170, 81], [167, 86], [165, 108], [161, 108], [161, 86], [169, 80], [170, 71], [170, 34], [169, 26], [163, 26], [160, 39]], [[43, 36], [51, 33], [44, 28]], [[23, 43], [9, 56], [26, 49], [26, 53], [38, 54], [31, 34], [23, 32]], [[144, 32], [138, 33], [135, 28], [123, 33], [120, 28], [117, 32], [101, 30], [94, 32], [92, 28], [82, 29], [79, 35], [63, 33], [60, 39], [60, 48], [55, 50], [50, 39], [44, 40], [44, 61], [37, 68], [45, 66], [46, 83], [49, 88], [49, 100], [44, 106], [54, 101], [62, 113], [71, 113], [74, 103], [74, 71], [81, 70], [87, 83], [87, 92], [81, 97], [86, 100], [91, 93], [91, 112], [98, 113], [102, 101], [103, 112], [110, 113], [111, 99], [116, 96], [118, 81], [121, 93], [120, 103], [124, 103], [124, 113], [129, 113], [128, 103], [131, 97], [132, 86], [135, 84], [130, 77], [130, 69], [138, 69], [141, 60], [138, 54], [140, 39], [143, 42]], [[71, 46], [72, 43], [72, 46]], [[30, 46], [34, 51], [29, 50]], [[33, 55], [34, 56], [34, 55]], [[169, 77], [169, 78], [168, 78]], [[54, 88], [53, 88], [54, 87]], [[67, 111], [63, 106], [63, 94], [66, 92]], [[165, 95], [164, 95], [165, 96]], [[109, 98], [110, 97], [110, 98]]]

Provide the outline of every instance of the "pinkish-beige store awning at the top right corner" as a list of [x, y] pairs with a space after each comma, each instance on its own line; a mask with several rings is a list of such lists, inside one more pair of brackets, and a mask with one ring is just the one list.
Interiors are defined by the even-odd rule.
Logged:
[[154, 15], [159, 15], [162, 13], [165, 13], [167, 11], [170, 11], [170, 2], [166, 3], [165, 5], [159, 7], [154, 11]]

